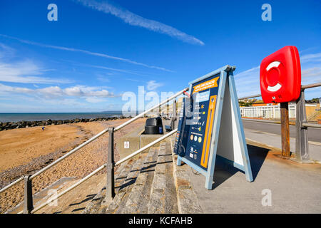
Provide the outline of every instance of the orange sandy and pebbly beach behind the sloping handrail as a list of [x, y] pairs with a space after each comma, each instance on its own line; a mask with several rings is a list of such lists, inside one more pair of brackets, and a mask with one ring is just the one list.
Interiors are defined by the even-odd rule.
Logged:
[[[116, 127], [123, 120], [90, 123], [73, 123], [41, 127], [21, 128], [0, 132], [0, 187], [17, 178], [49, 165], [77, 145], [108, 127]], [[136, 120], [115, 133], [115, 142], [133, 128], [143, 125], [143, 118]], [[116, 147], [116, 145], [115, 145]], [[39, 192], [61, 177], [81, 178], [103, 165], [107, 159], [108, 133], [81, 148], [73, 155], [46, 170], [33, 180], [33, 192]], [[119, 159], [115, 150], [115, 160]], [[105, 172], [105, 170], [104, 170]], [[0, 213], [6, 212], [23, 201], [23, 182], [0, 194]]]

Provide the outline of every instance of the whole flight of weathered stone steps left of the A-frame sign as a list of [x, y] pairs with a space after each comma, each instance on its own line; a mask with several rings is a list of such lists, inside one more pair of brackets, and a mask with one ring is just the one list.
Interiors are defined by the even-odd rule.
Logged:
[[132, 157], [115, 172], [115, 197], [106, 199], [103, 187], [83, 213], [202, 213], [186, 173], [188, 166], [176, 166], [174, 162], [170, 142]]

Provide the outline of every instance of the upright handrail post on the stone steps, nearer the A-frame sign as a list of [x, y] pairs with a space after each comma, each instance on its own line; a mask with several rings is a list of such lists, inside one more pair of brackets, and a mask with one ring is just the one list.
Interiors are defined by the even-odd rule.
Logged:
[[114, 179], [115, 160], [113, 155], [113, 128], [108, 128], [108, 133], [109, 133], [109, 142], [108, 142], [106, 199], [113, 199], [113, 197], [115, 196], [115, 179]]

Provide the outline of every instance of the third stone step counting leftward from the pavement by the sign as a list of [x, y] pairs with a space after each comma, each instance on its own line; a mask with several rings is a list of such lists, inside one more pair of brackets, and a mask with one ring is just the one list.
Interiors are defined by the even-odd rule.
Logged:
[[151, 195], [151, 184], [153, 182], [154, 171], [158, 157], [158, 148], [152, 147], [146, 160], [141, 166], [140, 173], [137, 177], [135, 185], [131, 190], [126, 204], [120, 207], [116, 213], [123, 214], [146, 214], [148, 210], [148, 201]]

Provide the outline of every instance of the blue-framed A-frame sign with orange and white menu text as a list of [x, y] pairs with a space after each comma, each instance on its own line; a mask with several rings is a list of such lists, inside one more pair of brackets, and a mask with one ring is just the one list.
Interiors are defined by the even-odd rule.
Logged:
[[206, 177], [213, 189], [215, 160], [220, 159], [245, 172], [253, 181], [248, 147], [240, 118], [233, 77], [234, 66], [224, 66], [190, 82], [190, 98], [180, 110], [174, 152], [181, 162]]

